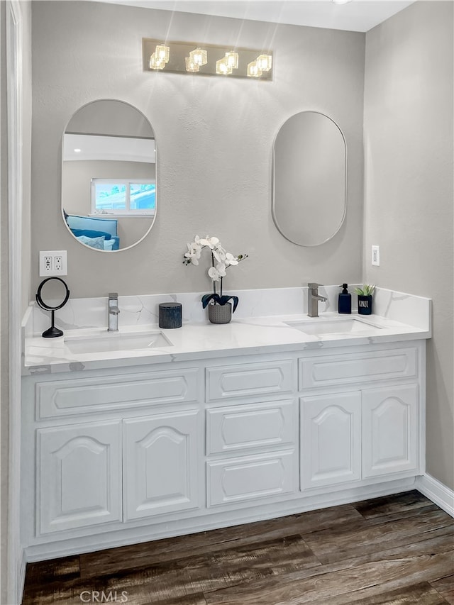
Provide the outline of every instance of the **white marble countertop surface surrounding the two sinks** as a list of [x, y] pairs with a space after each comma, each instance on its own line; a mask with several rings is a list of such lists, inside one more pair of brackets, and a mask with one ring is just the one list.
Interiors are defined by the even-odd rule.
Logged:
[[[365, 333], [311, 335], [289, 323], [315, 323], [341, 321], [348, 318], [363, 319], [376, 326], [373, 335]], [[380, 328], [380, 329], [378, 329]], [[150, 363], [200, 360], [209, 357], [254, 355], [258, 353], [285, 353], [292, 351], [320, 350], [370, 343], [392, 343], [405, 340], [431, 338], [430, 329], [409, 326], [378, 315], [339, 315], [335, 312], [320, 313], [319, 318], [306, 314], [287, 316], [239, 317], [231, 323], [216, 325], [205, 322], [183, 322], [182, 328], [165, 330], [157, 324], [124, 326], [120, 334], [140, 334], [160, 331], [172, 345], [145, 350], [116, 350], [98, 353], [72, 353], [68, 340], [77, 338], [109, 338], [106, 328], [81, 328], [65, 330], [60, 338], [43, 338], [29, 335], [24, 339], [23, 374], [49, 374], [101, 368], [126, 367]], [[118, 334], [118, 333], [115, 333]]]

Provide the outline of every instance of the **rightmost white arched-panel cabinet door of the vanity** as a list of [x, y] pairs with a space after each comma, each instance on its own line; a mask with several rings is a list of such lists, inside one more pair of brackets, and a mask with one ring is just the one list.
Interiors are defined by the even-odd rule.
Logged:
[[415, 470], [418, 387], [362, 392], [362, 477]]

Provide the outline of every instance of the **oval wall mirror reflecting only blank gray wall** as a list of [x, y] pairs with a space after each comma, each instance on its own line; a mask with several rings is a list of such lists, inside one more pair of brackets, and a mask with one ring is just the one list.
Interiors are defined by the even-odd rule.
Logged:
[[336, 122], [301, 111], [273, 146], [272, 217], [284, 238], [316, 246], [333, 238], [345, 217], [347, 148]]

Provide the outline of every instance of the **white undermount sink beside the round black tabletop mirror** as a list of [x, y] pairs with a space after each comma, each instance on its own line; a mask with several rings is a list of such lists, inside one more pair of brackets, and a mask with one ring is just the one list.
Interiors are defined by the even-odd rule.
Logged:
[[84, 336], [68, 336], [65, 344], [71, 353], [109, 353], [170, 347], [172, 343], [162, 332], [102, 332]]

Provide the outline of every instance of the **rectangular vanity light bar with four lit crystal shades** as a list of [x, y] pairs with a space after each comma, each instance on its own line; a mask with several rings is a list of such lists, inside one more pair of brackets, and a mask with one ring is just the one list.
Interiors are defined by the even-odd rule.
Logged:
[[[268, 48], [238, 48], [197, 42], [142, 39], [143, 70], [199, 76], [272, 80], [274, 63]], [[252, 64], [252, 65], [251, 65]], [[249, 66], [249, 67], [248, 67]]]

